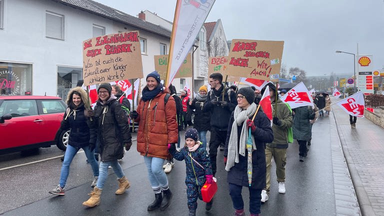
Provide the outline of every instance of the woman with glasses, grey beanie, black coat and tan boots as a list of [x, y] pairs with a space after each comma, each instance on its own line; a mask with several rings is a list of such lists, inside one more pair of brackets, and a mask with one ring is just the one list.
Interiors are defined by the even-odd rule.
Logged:
[[132, 145], [131, 135], [125, 112], [122, 110], [121, 104], [116, 101], [116, 97], [111, 94], [111, 90], [112, 87], [109, 83], [101, 83], [98, 86], [98, 100], [94, 107], [94, 117], [92, 121], [88, 121], [90, 127], [96, 129], [91, 137], [97, 135], [100, 144], [100, 175], [96, 186], [90, 193], [90, 198], [82, 203], [87, 207], [100, 203], [100, 194], [108, 176], [109, 165], [118, 180], [118, 189], [115, 194], [124, 193], [130, 186], [117, 159], [121, 159], [123, 156], [123, 146], [129, 150]]

